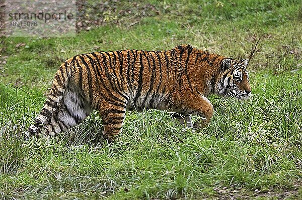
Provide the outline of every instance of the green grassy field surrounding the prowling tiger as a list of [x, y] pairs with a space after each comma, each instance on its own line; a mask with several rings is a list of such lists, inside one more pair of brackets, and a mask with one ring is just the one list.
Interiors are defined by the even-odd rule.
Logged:
[[[302, 198], [300, 1], [104, 5], [113, 9], [96, 13], [88, 1], [92, 20], [104, 24], [87, 24], [76, 37], [1, 38], [0, 199]], [[47, 144], [18, 136], [73, 55], [190, 44], [241, 59], [262, 33], [248, 69], [252, 97], [210, 96], [215, 113], [201, 131], [149, 110], [127, 112], [119, 141], [109, 145], [97, 113]]]

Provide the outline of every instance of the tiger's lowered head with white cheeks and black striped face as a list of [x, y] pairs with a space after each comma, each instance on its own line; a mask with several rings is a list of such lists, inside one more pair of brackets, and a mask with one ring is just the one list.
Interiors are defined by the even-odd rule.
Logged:
[[246, 70], [248, 59], [240, 61], [226, 58], [220, 64], [220, 74], [215, 84], [215, 93], [225, 97], [248, 99], [251, 95], [249, 75]]

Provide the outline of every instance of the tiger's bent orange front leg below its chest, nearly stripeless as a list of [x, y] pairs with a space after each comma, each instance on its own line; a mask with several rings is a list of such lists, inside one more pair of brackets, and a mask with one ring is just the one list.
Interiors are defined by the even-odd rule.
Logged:
[[196, 95], [188, 98], [188, 100], [184, 100], [180, 108], [181, 109], [178, 109], [184, 116], [193, 114], [202, 117], [193, 124], [193, 127], [197, 129], [206, 127], [209, 124], [214, 113], [213, 105], [205, 96], [202, 95]]

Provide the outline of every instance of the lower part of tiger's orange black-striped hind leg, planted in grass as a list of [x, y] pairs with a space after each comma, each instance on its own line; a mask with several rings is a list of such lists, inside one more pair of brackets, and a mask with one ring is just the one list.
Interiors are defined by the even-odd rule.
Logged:
[[122, 132], [122, 126], [125, 119], [126, 103], [106, 103], [100, 108], [100, 115], [104, 125], [103, 138], [108, 142], [113, 142], [115, 136]]

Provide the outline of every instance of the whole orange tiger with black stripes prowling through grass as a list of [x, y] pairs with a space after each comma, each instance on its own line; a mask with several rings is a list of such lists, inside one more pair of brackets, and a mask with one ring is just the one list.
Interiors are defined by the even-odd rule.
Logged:
[[[247, 65], [248, 59], [238, 61], [190, 45], [80, 54], [55, 73], [26, 138], [53, 137], [80, 124], [93, 110], [99, 112], [108, 142], [122, 132], [126, 110], [167, 110], [180, 124], [203, 128], [214, 112], [208, 95], [250, 97]], [[193, 124], [191, 115], [200, 119]]]

